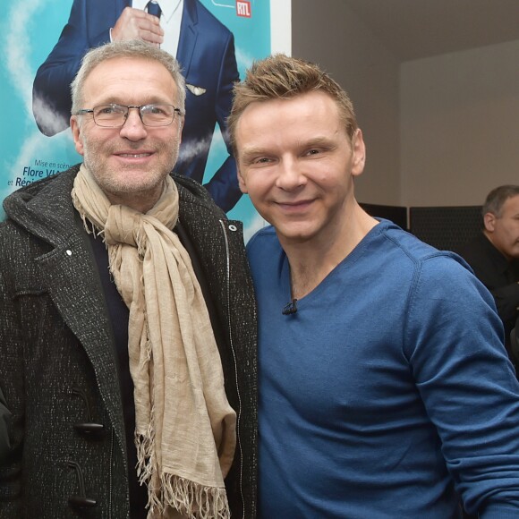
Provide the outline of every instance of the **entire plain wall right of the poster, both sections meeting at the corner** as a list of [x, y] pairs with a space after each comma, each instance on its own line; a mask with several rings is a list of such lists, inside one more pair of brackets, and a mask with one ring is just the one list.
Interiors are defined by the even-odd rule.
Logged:
[[400, 64], [342, 0], [293, 0], [292, 55], [353, 100], [368, 148], [358, 200], [480, 205], [519, 183], [519, 41]]

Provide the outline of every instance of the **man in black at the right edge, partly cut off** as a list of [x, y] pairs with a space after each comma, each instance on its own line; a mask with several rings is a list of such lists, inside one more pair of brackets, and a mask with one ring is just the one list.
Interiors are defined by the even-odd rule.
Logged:
[[[519, 185], [501, 185], [490, 191], [481, 214], [481, 234], [456, 252], [494, 296], [511, 354], [510, 332], [519, 318]], [[512, 359], [517, 366], [519, 358]]]

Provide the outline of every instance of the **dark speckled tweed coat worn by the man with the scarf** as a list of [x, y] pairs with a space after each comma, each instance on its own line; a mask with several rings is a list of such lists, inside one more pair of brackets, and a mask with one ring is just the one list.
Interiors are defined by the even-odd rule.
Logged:
[[[0, 225], [0, 388], [13, 413], [0, 464], [0, 517], [129, 514], [123, 409], [106, 301], [72, 207], [78, 166], [16, 191]], [[179, 229], [204, 273], [204, 294], [238, 417], [226, 478], [233, 517], [256, 515], [256, 310], [242, 227], [207, 192], [174, 176]], [[179, 232], [180, 235], [180, 232]], [[81, 426], [103, 425], [101, 433]], [[80, 424], [80, 425], [78, 425]], [[85, 430], [86, 428], [86, 430]], [[89, 499], [96, 505], [89, 507]]]

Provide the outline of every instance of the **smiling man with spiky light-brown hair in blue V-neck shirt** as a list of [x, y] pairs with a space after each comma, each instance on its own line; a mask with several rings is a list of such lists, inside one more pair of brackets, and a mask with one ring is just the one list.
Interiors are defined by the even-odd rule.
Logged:
[[355, 200], [366, 147], [315, 64], [234, 89], [259, 311], [259, 517], [519, 516], [519, 383], [488, 290]]

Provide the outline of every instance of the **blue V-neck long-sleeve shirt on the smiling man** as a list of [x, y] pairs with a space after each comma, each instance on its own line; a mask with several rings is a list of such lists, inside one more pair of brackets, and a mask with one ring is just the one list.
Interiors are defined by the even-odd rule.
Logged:
[[297, 311], [267, 227], [259, 302], [259, 517], [519, 516], [519, 385], [489, 292], [387, 221]]

